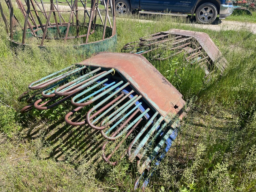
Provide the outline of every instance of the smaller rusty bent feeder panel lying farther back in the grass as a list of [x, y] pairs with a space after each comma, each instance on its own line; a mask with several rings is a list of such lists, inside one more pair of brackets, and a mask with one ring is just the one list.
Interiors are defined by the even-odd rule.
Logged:
[[[153, 60], [168, 60], [182, 53], [188, 63], [200, 66], [206, 77], [215, 74], [216, 68], [223, 73], [227, 63], [206, 33], [180, 29], [141, 37], [140, 41], [124, 45], [121, 51], [139, 55], [148, 54]], [[169, 55], [166, 54], [168, 51]]]

